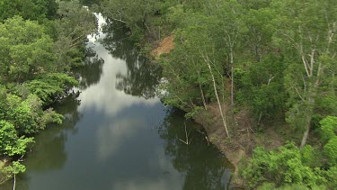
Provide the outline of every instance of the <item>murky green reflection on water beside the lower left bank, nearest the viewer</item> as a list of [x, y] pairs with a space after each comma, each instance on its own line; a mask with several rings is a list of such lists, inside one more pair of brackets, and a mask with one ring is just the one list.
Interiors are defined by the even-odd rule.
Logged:
[[[77, 107], [80, 101], [74, 95], [68, 96], [61, 104], [54, 105], [54, 109], [65, 116], [62, 126], [49, 124], [48, 129], [40, 131], [35, 137], [35, 143], [24, 158], [24, 165], [30, 172], [51, 172], [63, 167], [67, 161], [65, 144], [67, 132], [76, 133], [75, 124], [81, 119]], [[29, 188], [29, 176], [20, 174], [17, 178], [16, 189]], [[0, 189], [12, 189], [12, 181], [0, 186]]]

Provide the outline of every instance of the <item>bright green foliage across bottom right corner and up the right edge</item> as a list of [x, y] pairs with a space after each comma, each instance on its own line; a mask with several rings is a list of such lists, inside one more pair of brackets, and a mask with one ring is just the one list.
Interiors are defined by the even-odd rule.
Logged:
[[[259, 189], [335, 189], [337, 187], [336, 117], [325, 117], [321, 122], [323, 149], [306, 145], [298, 149], [288, 143], [276, 150], [256, 148], [253, 158], [244, 169], [250, 187]], [[324, 186], [317, 186], [324, 185]]]

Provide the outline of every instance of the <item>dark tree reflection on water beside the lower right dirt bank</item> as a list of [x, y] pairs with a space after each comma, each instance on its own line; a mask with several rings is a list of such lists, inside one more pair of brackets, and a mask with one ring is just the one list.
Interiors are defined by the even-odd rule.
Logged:
[[[191, 143], [186, 145], [185, 127]], [[168, 110], [158, 129], [164, 140], [165, 154], [172, 158], [173, 167], [185, 174], [183, 189], [228, 189], [231, 164], [214, 146], [208, 146], [205, 133], [197, 124], [184, 119], [177, 109]]]

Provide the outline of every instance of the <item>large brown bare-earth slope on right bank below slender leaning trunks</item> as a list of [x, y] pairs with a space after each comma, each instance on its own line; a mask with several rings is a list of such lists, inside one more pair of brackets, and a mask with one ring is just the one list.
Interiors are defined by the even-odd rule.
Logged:
[[[226, 123], [230, 138], [226, 136], [221, 115], [218, 111], [218, 104], [208, 104], [208, 109], [202, 111], [195, 117], [195, 121], [200, 123], [208, 133], [208, 140], [217, 146], [234, 165], [235, 173], [233, 183], [236, 187], [244, 186], [244, 179], [238, 176], [239, 164], [242, 160], [251, 158], [253, 149], [260, 145], [267, 149], [275, 149], [284, 142], [275, 129], [268, 128], [263, 133], [256, 132], [256, 122], [253, 115], [242, 109], [233, 113], [226, 104], [222, 105], [226, 113]], [[263, 127], [260, 126], [259, 129]]]

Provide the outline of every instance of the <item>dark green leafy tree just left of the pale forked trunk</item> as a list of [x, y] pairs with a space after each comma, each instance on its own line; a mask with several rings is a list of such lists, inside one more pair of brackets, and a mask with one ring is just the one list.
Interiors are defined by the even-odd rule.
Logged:
[[283, 58], [269, 55], [254, 63], [237, 81], [245, 95], [245, 103], [251, 107], [255, 117], [278, 116], [285, 107], [287, 95], [283, 86]]

